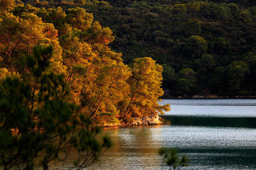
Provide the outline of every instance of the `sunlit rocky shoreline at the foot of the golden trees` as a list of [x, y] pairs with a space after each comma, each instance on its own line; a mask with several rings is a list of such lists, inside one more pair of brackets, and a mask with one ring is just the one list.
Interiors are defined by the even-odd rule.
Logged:
[[150, 117], [134, 118], [131, 123], [128, 124], [102, 124], [102, 127], [131, 127], [131, 126], [143, 126], [143, 125], [160, 125], [161, 117], [158, 115], [152, 115]]

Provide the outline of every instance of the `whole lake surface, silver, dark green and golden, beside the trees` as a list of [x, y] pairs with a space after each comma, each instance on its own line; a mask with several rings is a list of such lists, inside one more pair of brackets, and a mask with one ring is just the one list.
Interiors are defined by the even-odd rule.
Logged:
[[256, 99], [164, 99], [164, 125], [104, 131], [114, 146], [88, 169], [168, 169], [158, 150], [177, 148], [181, 169], [256, 169]]

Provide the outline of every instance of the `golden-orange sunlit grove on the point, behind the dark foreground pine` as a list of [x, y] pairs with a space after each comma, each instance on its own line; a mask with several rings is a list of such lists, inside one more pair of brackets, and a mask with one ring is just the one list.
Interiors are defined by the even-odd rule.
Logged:
[[0, 3], [0, 82], [28, 74], [24, 56], [33, 55], [34, 46], [52, 46], [46, 72], [64, 77], [69, 101], [96, 123], [132, 122], [168, 110], [168, 104], [157, 103], [163, 96], [163, 67], [149, 57], [124, 64], [122, 54], [108, 46], [113, 32], [93, 20], [92, 13], [12, 3]]

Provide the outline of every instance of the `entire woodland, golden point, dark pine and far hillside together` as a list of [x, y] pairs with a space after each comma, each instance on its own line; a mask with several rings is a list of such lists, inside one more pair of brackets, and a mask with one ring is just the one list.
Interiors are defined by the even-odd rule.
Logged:
[[256, 96], [255, 20], [245, 0], [0, 0], [0, 167], [88, 167], [97, 126], [159, 121], [163, 89]]

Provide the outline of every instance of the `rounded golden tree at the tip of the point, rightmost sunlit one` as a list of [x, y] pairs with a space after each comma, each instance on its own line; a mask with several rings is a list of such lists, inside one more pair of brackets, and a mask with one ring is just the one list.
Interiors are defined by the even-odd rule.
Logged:
[[131, 94], [125, 103], [123, 117], [143, 117], [163, 113], [170, 110], [169, 104], [161, 106], [157, 103], [163, 95], [161, 81], [163, 67], [156, 64], [156, 60], [149, 57], [134, 59], [130, 65], [132, 76], [128, 83], [131, 86]]

